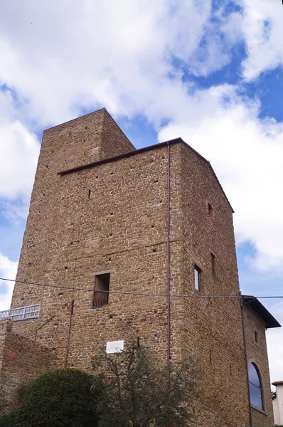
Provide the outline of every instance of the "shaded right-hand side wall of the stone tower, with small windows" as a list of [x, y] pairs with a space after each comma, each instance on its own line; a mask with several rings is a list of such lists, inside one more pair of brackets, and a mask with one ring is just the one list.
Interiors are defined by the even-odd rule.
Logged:
[[[208, 162], [182, 150], [183, 293], [193, 297], [185, 300], [184, 346], [186, 354], [201, 356], [203, 369], [197, 425], [249, 426], [240, 302], [201, 298], [239, 295], [233, 211]], [[195, 265], [201, 269], [200, 292], [194, 288]]]

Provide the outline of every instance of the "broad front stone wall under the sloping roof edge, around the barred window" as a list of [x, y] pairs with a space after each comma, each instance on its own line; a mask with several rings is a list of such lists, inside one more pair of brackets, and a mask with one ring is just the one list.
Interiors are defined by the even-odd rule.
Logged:
[[[171, 147], [171, 208], [178, 212], [171, 221], [173, 291], [181, 286], [180, 149], [180, 145]], [[60, 185], [42, 204], [40, 216], [34, 203], [31, 205], [18, 276], [21, 280], [91, 292], [17, 284], [14, 307], [35, 301], [41, 304], [40, 318], [24, 324], [18, 322], [18, 332], [32, 339], [36, 329], [54, 316], [38, 331], [37, 340], [55, 349], [59, 354], [58, 366], [63, 367], [69, 306], [74, 300], [68, 366], [90, 369], [91, 359], [107, 341], [129, 342], [137, 336], [141, 343], [149, 342], [156, 354], [165, 358], [166, 297], [111, 294], [108, 305], [93, 309], [92, 273], [111, 271], [112, 291], [166, 294], [167, 148], [58, 179]], [[181, 337], [174, 325], [181, 322], [181, 317], [178, 300], [172, 303], [171, 340], [175, 357], [180, 353]]]

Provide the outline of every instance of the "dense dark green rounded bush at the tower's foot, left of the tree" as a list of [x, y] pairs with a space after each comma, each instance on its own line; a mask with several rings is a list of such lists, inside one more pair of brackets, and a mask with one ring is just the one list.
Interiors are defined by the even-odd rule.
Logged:
[[38, 376], [23, 391], [16, 426], [97, 426], [99, 391], [92, 387], [93, 381], [92, 375], [79, 369], [58, 369]]

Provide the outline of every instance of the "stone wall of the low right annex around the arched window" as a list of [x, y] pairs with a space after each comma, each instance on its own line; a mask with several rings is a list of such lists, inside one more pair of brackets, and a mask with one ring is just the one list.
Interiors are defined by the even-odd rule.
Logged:
[[[263, 386], [264, 411], [252, 408], [252, 422], [256, 427], [274, 426], [270, 376], [265, 337], [265, 323], [249, 305], [244, 306], [245, 340], [247, 345], [247, 361], [254, 362], [260, 370]], [[257, 331], [258, 343], [255, 342]]]

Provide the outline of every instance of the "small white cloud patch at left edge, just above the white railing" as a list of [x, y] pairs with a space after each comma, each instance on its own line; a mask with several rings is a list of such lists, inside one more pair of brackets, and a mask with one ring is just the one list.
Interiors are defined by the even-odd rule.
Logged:
[[[18, 263], [9, 260], [6, 256], [0, 253], [0, 277], [15, 279]], [[13, 282], [0, 280], [0, 311], [7, 310], [11, 302], [11, 296], [14, 289]]]

